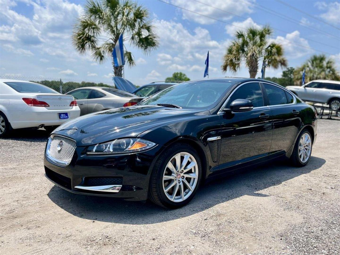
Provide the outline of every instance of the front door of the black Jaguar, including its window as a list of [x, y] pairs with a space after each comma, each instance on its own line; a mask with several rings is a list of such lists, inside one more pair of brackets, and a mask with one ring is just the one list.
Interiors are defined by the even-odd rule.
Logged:
[[265, 106], [258, 82], [247, 82], [234, 90], [226, 101], [228, 108], [236, 99], [248, 99], [249, 112], [219, 113], [221, 120], [220, 169], [267, 155], [272, 140], [272, 116]]

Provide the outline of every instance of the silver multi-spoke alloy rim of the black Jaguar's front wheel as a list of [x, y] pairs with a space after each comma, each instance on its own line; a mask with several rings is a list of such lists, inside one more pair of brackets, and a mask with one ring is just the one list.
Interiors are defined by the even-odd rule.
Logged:
[[163, 173], [163, 191], [173, 202], [186, 200], [194, 191], [198, 182], [198, 164], [188, 152], [174, 155]]

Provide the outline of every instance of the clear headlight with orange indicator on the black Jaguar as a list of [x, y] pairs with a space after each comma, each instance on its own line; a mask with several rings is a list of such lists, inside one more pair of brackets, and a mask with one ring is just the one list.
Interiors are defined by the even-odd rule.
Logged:
[[156, 143], [140, 138], [122, 138], [109, 142], [98, 143], [89, 146], [86, 150], [87, 154], [113, 154], [113, 153], [130, 153], [137, 151], [145, 151], [154, 147]]

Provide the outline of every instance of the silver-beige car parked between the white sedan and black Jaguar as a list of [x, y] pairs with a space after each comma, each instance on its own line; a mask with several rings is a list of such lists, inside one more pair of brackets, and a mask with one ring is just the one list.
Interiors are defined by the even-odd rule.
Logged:
[[80, 115], [122, 106], [131, 106], [143, 98], [129, 92], [108, 87], [83, 87], [66, 93], [72, 95], [80, 108]]

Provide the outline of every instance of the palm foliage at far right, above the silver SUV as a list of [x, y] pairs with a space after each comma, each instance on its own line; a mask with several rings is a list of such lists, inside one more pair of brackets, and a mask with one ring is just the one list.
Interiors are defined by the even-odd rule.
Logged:
[[334, 60], [327, 59], [324, 54], [311, 56], [302, 66], [295, 69], [294, 80], [299, 84], [301, 84], [304, 69], [306, 69], [306, 83], [312, 80], [340, 80], [340, 74], [336, 71]]

